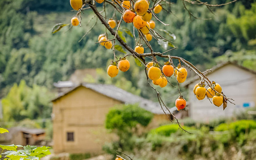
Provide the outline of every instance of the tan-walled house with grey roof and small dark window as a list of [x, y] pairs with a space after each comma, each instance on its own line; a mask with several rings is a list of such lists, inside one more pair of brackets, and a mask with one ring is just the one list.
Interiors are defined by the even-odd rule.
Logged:
[[168, 120], [159, 103], [113, 85], [81, 83], [62, 92], [52, 103], [55, 153], [102, 152], [103, 144], [116, 138], [104, 127], [106, 114], [115, 105], [138, 103], [154, 114], [151, 126]]

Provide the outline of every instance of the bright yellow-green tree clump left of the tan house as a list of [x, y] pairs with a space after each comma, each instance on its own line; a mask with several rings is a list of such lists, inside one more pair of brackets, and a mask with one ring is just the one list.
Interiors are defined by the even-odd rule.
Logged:
[[50, 118], [51, 95], [45, 87], [33, 85], [30, 88], [25, 81], [21, 81], [19, 85], [15, 83], [8, 95], [2, 99], [4, 120]]

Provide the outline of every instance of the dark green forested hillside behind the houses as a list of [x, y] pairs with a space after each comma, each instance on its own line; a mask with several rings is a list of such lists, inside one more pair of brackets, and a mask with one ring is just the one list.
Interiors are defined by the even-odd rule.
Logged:
[[[216, 58], [238, 60], [246, 67], [256, 67], [255, 0], [240, 0], [224, 7], [211, 8], [214, 14], [205, 6], [186, 4], [198, 19], [189, 15], [181, 1], [171, 2], [174, 2], [171, 13], [159, 14], [159, 18], [170, 26], [156, 24], [157, 30], [164, 29], [176, 35], [177, 39], [173, 40], [173, 44], [179, 48], [171, 54], [184, 57], [201, 69], [216, 64]], [[220, 4], [225, 1], [208, 2]], [[66, 26], [52, 35], [51, 28], [54, 24], [67, 24], [75, 15], [75, 12], [70, 12], [68, 0], [1, 0], [0, 6], [0, 97], [5, 96], [10, 87], [22, 79], [29, 86], [36, 83], [51, 88], [53, 82], [68, 79], [75, 69], [105, 70], [109, 59], [112, 59], [110, 50], [95, 44], [98, 35], [105, 32], [100, 22], [78, 42], [96, 21], [93, 18], [87, 24], [93, 17], [90, 10], [85, 10], [82, 15], [82, 28], [73, 27], [68, 30], [69, 27]], [[101, 10], [101, 6], [98, 9]], [[112, 14], [107, 15], [111, 16]], [[203, 18], [211, 20], [201, 20]], [[131, 25], [127, 24], [127, 28], [123, 27], [121, 31], [125, 29], [131, 29]], [[131, 37], [125, 32], [123, 36], [134, 47]], [[156, 40], [151, 44], [154, 48], [159, 48]], [[159, 48], [159, 51], [164, 49]], [[142, 89], [143, 85], [139, 83], [143, 68], [138, 68], [133, 67], [123, 81], [129, 82], [131, 87]], [[105, 80], [101, 82], [104, 83]], [[143, 91], [146, 94], [147, 91]]]

